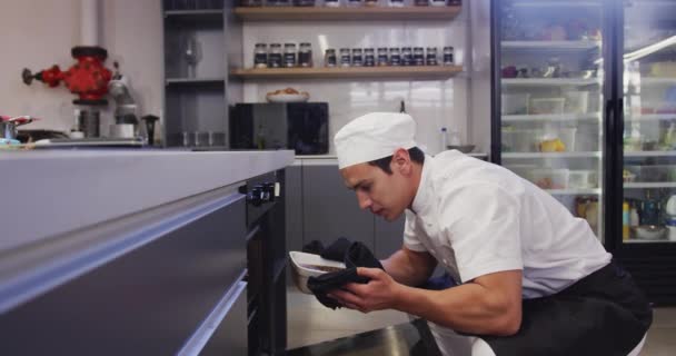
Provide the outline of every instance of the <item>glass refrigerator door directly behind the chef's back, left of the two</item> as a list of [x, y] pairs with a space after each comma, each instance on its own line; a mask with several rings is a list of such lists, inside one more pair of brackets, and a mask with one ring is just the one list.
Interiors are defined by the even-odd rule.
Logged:
[[603, 0], [494, 0], [491, 160], [604, 231]]

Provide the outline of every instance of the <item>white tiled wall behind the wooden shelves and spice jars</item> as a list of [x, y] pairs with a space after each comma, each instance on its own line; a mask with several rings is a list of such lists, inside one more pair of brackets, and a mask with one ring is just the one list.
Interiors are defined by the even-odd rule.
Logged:
[[[467, 1], [468, 2], [468, 1]], [[250, 68], [254, 62], [254, 44], [310, 42], [315, 66], [324, 65], [327, 48], [378, 47], [443, 47], [455, 48], [455, 59], [465, 65], [468, 53], [467, 8], [454, 20], [420, 21], [308, 21], [308, 22], [246, 22], [243, 24], [243, 60]], [[440, 56], [440, 53], [439, 53]], [[470, 125], [468, 93], [470, 78], [467, 73], [448, 80], [352, 80], [325, 79], [299, 81], [247, 81], [245, 101], [264, 102], [268, 91], [292, 87], [310, 93], [311, 101], [328, 101], [330, 137], [362, 113], [370, 111], [398, 111], [405, 100], [407, 112], [418, 122], [417, 140], [436, 154], [440, 149], [440, 128], [459, 130], [461, 139], [469, 137]], [[332, 154], [334, 147], [330, 147]]]

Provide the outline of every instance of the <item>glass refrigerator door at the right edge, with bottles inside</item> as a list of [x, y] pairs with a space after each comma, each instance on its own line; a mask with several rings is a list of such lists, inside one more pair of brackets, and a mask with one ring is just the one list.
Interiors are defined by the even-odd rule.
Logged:
[[615, 1], [608, 247], [650, 301], [676, 304], [676, 1]]

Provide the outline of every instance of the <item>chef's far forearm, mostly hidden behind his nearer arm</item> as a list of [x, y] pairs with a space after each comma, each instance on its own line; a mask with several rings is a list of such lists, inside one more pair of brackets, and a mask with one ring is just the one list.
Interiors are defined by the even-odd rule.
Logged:
[[407, 286], [419, 286], [431, 275], [436, 263], [424, 254], [400, 249], [388, 259], [381, 260], [382, 267], [396, 281]]

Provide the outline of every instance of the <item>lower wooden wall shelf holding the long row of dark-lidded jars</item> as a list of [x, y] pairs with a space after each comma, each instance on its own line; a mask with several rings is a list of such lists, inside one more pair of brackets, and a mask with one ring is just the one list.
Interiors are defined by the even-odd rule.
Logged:
[[231, 75], [242, 79], [426, 79], [444, 80], [463, 71], [460, 66], [415, 67], [332, 67], [238, 69]]

